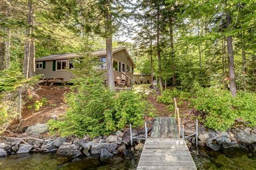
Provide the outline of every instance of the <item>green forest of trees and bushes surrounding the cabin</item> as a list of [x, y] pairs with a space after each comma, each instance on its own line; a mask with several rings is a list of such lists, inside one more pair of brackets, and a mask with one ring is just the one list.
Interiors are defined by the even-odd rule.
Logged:
[[50, 121], [52, 130], [95, 136], [142, 124], [153, 109], [145, 112], [143, 96], [114, 93], [112, 49], [124, 46], [135, 71], [158, 81], [159, 103], [191, 98], [205, 125], [221, 131], [236, 119], [255, 126], [254, 1], [2, 0], [0, 9], [1, 132], [21, 123], [25, 100], [37, 96], [36, 58], [98, 49], [106, 49], [107, 88], [85, 55], [67, 118]]

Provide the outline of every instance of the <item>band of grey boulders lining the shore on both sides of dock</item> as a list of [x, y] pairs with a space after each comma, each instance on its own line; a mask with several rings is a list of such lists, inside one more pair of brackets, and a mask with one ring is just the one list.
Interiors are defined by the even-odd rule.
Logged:
[[[185, 136], [194, 131], [192, 124], [187, 124], [185, 127]], [[152, 128], [148, 127], [148, 130], [150, 135]], [[131, 146], [129, 128], [109, 136], [99, 136], [93, 139], [78, 138], [75, 135], [66, 138], [43, 138], [41, 134], [47, 131], [48, 128], [45, 124], [38, 124], [27, 128], [26, 134], [30, 135], [29, 137], [0, 137], [0, 157], [29, 152], [56, 152], [57, 155], [72, 158], [98, 156], [100, 161], [108, 161], [116, 154], [142, 151], [144, 146], [144, 141], [139, 139], [134, 139], [134, 146]], [[242, 147], [256, 151], [256, 127], [240, 126], [227, 132], [220, 132], [199, 126], [198, 132], [199, 147], [207, 146], [214, 151]], [[133, 136], [142, 134], [145, 134], [144, 128], [132, 130]], [[196, 145], [195, 137], [188, 137], [185, 141], [190, 148], [194, 148]]]

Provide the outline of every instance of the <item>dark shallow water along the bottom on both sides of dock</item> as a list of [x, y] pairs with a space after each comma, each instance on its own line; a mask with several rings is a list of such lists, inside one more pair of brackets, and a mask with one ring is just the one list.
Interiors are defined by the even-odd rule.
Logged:
[[[191, 152], [198, 169], [256, 169], [255, 154], [242, 149], [210, 151], [199, 149]], [[0, 158], [0, 169], [130, 169], [136, 168], [139, 158], [132, 155], [114, 157], [112, 164], [100, 162], [98, 157], [70, 159], [54, 153], [28, 153]]]

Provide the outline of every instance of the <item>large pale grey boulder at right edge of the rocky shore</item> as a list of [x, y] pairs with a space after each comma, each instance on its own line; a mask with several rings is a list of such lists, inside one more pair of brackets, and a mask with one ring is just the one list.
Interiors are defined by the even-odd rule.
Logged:
[[253, 144], [256, 142], [256, 132], [250, 127], [235, 130], [233, 131], [233, 134], [235, 139], [246, 144]]

